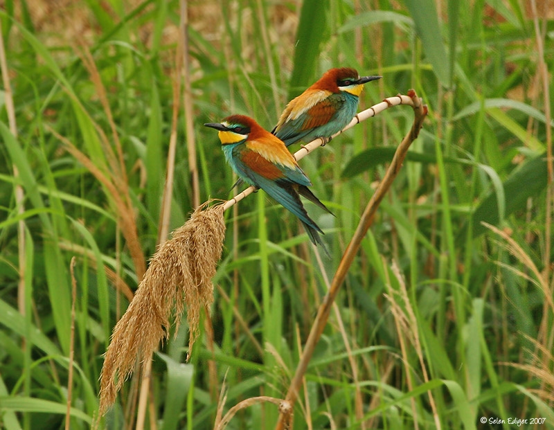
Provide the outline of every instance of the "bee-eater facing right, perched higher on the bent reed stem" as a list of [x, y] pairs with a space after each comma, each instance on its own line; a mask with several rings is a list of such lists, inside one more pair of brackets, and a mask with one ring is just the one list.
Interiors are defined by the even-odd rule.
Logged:
[[287, 146], [330, 138], [354, 118], [364, 84], [381, 78], [360, 78], [349, 67], [326, 71], [312, 87], [289, 102], [272, 133]]

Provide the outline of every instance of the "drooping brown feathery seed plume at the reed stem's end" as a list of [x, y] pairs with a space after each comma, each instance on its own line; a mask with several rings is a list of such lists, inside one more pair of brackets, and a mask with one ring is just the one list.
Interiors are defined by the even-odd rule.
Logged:
[[139, 289], [111, 335], [100, 374], [100, 415], [116, 400], [137, 359], [150, 359], [159, 342], [167, 339], [169, 316], [175, 309], [179, 325], [184, 305], [190, 330], [188, 355], [198, 336], [200, 310], [213, 303], [217, 262], [225, 238], [223, 206], [199, 206], [184, 226], [159, 247]]

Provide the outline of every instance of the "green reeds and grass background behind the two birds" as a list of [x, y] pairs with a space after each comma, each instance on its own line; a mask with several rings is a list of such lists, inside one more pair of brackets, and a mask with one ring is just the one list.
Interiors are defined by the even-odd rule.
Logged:
[[[339, 295], [294, 429], [554, 428], [553, 19], [544, 0], [4, 0], [0, 427], [90, 427], [111, 329], [165, 228], [170, 141], [172, 230], [230, 197], [203, 123], [242, 113], [270, 129], [323, 71], [353, 66], [384, 77], [360, 109], [414, 88], [429, 118]], [[212, 429], [224, 384], [224, 413], [284, 397], [412, 116], [394, 107], [303, 159], [337, 215], [307, 206], [332, 250], [323, 269], [264, 192], [227, 211], [213, 334], [188, 364], [186, 324], [155, 355], [144, 428]], [[138, 390], [132, 377], [100, 427], [134, 428]], [[226, 428], [272, 429], [277, 415], [252, 404]]]

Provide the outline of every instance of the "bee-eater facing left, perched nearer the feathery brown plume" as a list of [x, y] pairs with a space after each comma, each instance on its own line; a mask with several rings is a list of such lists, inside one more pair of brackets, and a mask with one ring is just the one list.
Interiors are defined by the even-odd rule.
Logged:
[[204, 124], [219, 131], [225, 158], [244, 182], [262, 188], [267, 194], [296, 215], [304, 225], [313, 244], [320, 244], [325, 253], [323, 233], [312, 220], [300, 200], [303, 195], [328, 213], [331, 211], [310, 191], [307, 179], [287, 150], [285, 143], [244, 115], [232, 115], [221, 123]]

